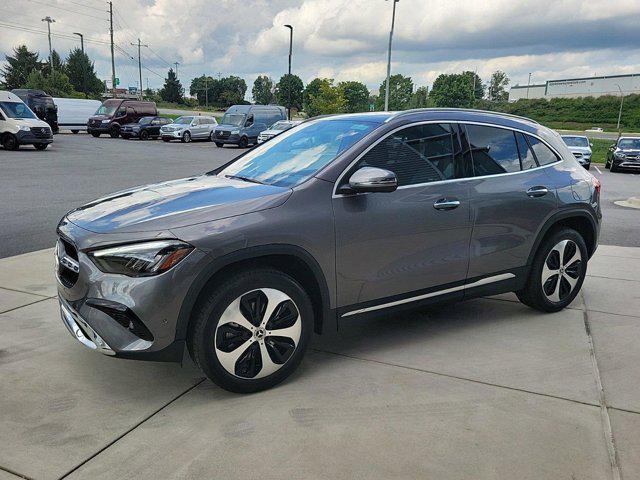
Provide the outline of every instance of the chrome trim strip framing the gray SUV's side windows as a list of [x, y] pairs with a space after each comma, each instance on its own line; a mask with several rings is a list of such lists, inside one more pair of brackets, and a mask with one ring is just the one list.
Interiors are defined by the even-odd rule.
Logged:
[[[435, 123], [456, 123], [458, 125], [480, 125], [480, 126], [484, 126], [484, 127], [494, 127], [494, 128], [502, 128], [504, 130], [510, 130], [512, 132], [520, 132], [524, 135], [530, 135], [538, 140], [540, 140], [540, 142], [542, 142], [543, 145], [545, 145], [546, 147], [548, 147], [554, 154], [557, 155], [557, 157], [560, 159], [556, 162], [553, 163], [548, 163], [546, 165], [539, 165], [535, 168], [529, 168], [527, 170], [520, 170], [519, 172], [505, 172], [505, 173], [494, 173], [493, 175], [483, 175], [483, 176], [479, 176], [479, 177], [465, 177], [465, 178], [452, 178], [449, 180], [438, 180], [437, 182], [423, 182], [423, 183], [414, 183], [412, 185], [403, 185], [401, 187], [398, 187], [398, 190], [404, 190], [406, 188], [417, 188], [417, 187], [424, 187], [426, 185], [440, 185], [443, 183], [452, 183], [452, 182], [468, 182], [470, 180], [477, 180], [480, 178], [494, 178], [494, 177], [502, 177], [504, 175], [519, 175], [522, 173], [527, 173], [527, 172], [534, 172], [536, 170], [542, 170], [543, 168], [548, 168], [548, 167], [552, 167], [554, 165], [557, 165], [559, 163], [561, 163], [564, 159], [562, 158], [562, 155], [560, 155], [560, 153], [558, 153], [558, 151], [553, 148], [551, 145], [549, 145], [543, 138], [541, 138], [540, 136], [527, 132], [525, 130], [521, 130], [519, 128], [512, 128], [512, 127], [507, 127], [504, 125], [496, 125], [493, 123], [486, 123], [486, 122], [478, 122], [478, 121], [464, 121], [464, 120], [423, 120], [423, 121], [419, 121], [419, 122], [413, 122], [413, 123], [407, 123], [406, 125], [401, 125], [397, 128], [394, 128], [393, 130], [387, 132], [384, 136], [380, 137], [379, 139], [377, 139], [374, 143], [372, 143], [371, 145], [369, 145], [364, 151], [362, 151], [362, 153], [360, 153], [360, 155], [358, 155], [340, 174], [340, 176], [338, 177], [338, 180], [336, 181], [334, 187], [333, 187], [333, 194], [331, 195], [331, 198], [343, 198], [343, 197], [350, 197], [353, 196], [354, 194], [352, 193], [337, 193], [338, 190], [338, 185], [340, 185], [340, 183], [343, 181], [344, 177], [346, 176], [347, 172], [355, 165], [357, 164], [362, 157], [364, 157], [367, 153], [369, 153], [369, 150], [371, 150], [373, 147], [375, 147], [376, 145], [378, 145], [378, 143], [382, 142], [383, 140], [385, 140], [388, 136], [393, 135], [394, 133], [396, 133], [399, 130], [402, 130], [404, 128], [410, 128], [410, 127], [415, 127], [418, 125], [429, 125], [429, 124], [435, 124]], [[369, 193], [357, 193], [356, 195], [368, 195]]]

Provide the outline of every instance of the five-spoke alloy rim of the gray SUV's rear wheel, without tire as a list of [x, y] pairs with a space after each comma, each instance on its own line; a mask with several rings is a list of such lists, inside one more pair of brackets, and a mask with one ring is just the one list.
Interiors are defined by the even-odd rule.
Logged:
[[542, 267], [542, 291], [550, 302], [565, 300], [582, 275], [582, 255], [572, 240], [557, 243]]

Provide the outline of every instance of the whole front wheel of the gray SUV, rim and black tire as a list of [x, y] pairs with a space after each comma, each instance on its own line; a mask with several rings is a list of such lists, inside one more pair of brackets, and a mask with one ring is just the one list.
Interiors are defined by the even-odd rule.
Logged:
[[256, 392], [298, 366], [313, 328], [309, 297], [291, 277], [259, 269], [236, 274], [197, 312], [189, 349], [217, 385]]

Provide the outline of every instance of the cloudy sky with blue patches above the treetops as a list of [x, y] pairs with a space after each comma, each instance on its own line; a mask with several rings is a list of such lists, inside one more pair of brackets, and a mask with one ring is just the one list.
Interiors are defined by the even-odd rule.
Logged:
[[[180, 62], [187, 86], [202, 73], [279, 78], [287, 69], [294, 26], [293, 71], [360, 80], [377, 90], [386, 71], [392, 4], [385, 0], [114, 0], [116, 72], [136, 85], [138, 37], [143, 83], [162, 85]], [[19, 44], [46, 57], [44, 16], [52, 32], [85, 35], [100, 78], [110, 77], [107, 5], [101, 0], [2, 0], [0, 53]], [[25, 31], [25, 28], [29, 31]], [[66, 53], [78, 45], [53, 37]], [[129, 55], [135, 56], [135, 61]], [[4, 57], [0, 57], [3, 59]], [[592, 75], [640, 73], [639, 0], [400, 0], [392, 71], [431, 85], [440, 73], [476, 70], [487, 80], [507, 72], [512, 84]]]

